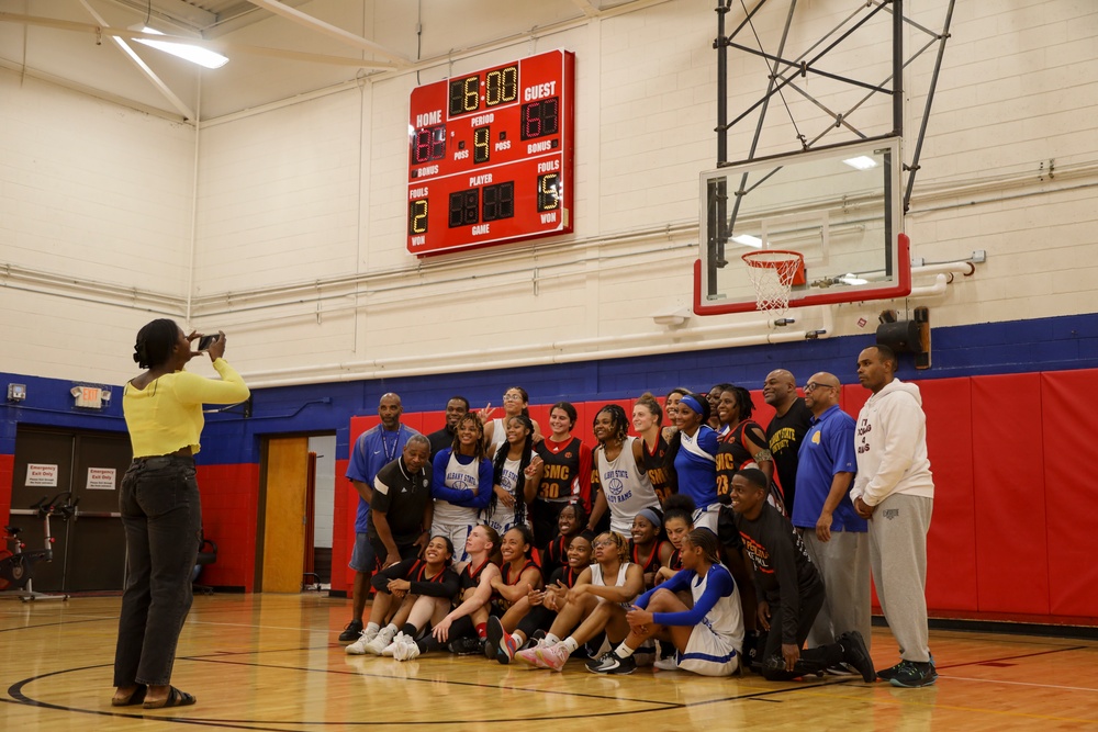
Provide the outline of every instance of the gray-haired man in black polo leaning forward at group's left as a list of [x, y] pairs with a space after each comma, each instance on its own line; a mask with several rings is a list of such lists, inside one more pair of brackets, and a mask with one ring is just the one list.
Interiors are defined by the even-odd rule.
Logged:
[[400, 458], [373, 478], [367, 537], [382, 566], [415, 559], [427, 545], [434, 504], [430, 500], [430, 442], [414, 435]]

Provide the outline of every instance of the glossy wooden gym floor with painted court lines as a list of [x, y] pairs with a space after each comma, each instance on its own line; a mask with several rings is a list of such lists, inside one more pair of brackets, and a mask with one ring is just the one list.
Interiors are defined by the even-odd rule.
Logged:
[[[195, 597], [172, 682], [198, 705], [110, 706], [117, 597], [0, 603], [0, 730], [1078, 730], [1098, 728], [1098, 642], [933, 632], [940, 678], [897, 689], [640, 669], [596, 676], [478, 656], [347, 656], [349, 601]], [[896, 661], [883, 628], [877, 666]], [[183, 724], [186, 727], [179, 727]]]

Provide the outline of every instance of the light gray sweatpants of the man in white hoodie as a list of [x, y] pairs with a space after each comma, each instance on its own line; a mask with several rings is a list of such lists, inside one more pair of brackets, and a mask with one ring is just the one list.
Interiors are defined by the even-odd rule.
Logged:
[[906, 661], [930, 661], [927, 531], [934, 500], [896, 493], [870, 520], [870, 565], [881, 609]]

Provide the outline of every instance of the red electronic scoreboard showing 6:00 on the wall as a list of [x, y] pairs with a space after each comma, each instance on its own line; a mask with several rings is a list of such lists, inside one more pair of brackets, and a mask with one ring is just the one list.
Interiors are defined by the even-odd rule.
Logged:
[[412, 90], [408, 252], [572, 230], [574, 77], [551, 50]]

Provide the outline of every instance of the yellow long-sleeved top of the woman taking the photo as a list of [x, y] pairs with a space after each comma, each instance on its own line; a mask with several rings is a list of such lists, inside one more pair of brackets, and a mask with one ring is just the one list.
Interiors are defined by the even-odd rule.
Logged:
[[122, 413], [134, 458], [166, 455], [186, 447], [192, 453], [198, 452], [205, 424], [202, 405], [235, 404], [248, 398], [251, 392], [225, 359], [214, 361], [213, 368], [221, 374], [221, 381], [177, 371], [145, 388], [126, 384]]

